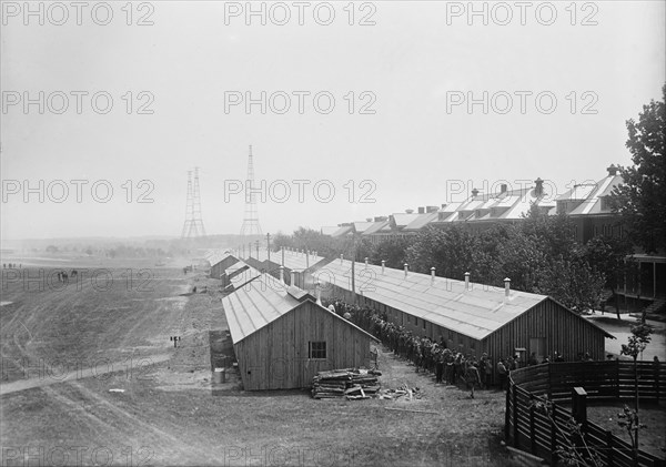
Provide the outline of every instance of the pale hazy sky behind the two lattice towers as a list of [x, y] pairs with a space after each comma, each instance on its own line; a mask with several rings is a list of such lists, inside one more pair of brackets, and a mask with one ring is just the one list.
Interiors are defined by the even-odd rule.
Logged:
[[195, 165], [208, 233], [238, 233], [250, 144], [264, 232], [563, 192], [630, 163], [666, 81], [663, 1], [83, 3], [2, 2], [3, 238], [179, 235]]

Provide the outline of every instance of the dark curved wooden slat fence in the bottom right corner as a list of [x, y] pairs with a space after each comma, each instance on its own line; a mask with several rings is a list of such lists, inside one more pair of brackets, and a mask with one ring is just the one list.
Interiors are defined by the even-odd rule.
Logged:
[[[666, 365], [638, 362], [638, 395], [642, 402], [666, 399]], [[505, 437], [509, 445], [557, 464], [557, 446], [565, 446], [566, 425], [574, 414], [563, 406], [573, 403], [575, 387], [583, 387], [587, 400], [626, 400], [635, 397], [634, 362], [548, 363], [511, 373], [506, 392]], [[549, 416], [535, 408], [535, 400], [552, 403]], [[587, 446], [607, 466], [635, 466], [629, 443], [591, 420], [583, 424]], [[639, 466], [665, 467], [666, 460], [638, 451]]]

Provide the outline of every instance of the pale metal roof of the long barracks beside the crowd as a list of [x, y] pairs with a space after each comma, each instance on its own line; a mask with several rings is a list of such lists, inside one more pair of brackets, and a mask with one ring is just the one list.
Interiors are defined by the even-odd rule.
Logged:
[[[351, 291], [351, 262], [334, 260], [316, 273], [322, 284], [333, 284]], [[483, 339], [527, 309], [547, 300], [545, 295], [512, 290], [508, 298], [504, 287], [435, 277], [414, 272], [356, 263], [355, 284], [362, 296], [417, 316], [438, 326]]]

